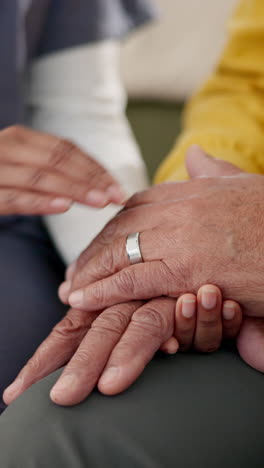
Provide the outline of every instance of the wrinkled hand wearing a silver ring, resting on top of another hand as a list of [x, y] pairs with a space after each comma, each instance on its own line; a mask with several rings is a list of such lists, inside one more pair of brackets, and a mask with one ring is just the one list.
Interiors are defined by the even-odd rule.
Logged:
[[[211, 283], [246, 314], [263, 317], [263, 199], [263, 176], [242, 173], [138, 194], [82, 255], [61, 297], [74, 291], [70, 305], [91, 312], [128, 300], [196, 293]], [[144, 263], [131, 266], [125, 243], [135, 231], [141, 232]]]

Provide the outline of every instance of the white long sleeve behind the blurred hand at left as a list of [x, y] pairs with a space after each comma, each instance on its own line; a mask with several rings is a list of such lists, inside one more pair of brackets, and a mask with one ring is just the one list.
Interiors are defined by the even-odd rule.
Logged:
[[[71, 139], [100, 161], [132, 194], [147, 187], [145, 166], [125, 116], [116, 41], [81, 46], [36, 60], [30, 72], [28, 124]], [[49, 232], [72, 262], [119, 208], [74, 205], [46, 216]]]

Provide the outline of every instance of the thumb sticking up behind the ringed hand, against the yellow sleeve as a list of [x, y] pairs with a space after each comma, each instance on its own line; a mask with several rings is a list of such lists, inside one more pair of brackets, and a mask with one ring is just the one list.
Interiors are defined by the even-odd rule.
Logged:
[[220, 177], [244, 172], [227, 161], [209, 156], [198, 145], [192, 145], [188, 149], [186, 168], [191, 178], [201, 176]]

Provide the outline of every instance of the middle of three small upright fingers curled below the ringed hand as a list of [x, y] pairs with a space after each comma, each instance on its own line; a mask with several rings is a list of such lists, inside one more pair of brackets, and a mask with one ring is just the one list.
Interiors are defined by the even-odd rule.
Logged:
[[197, 351], [216, 351], [222, 341], [222, 294], [212, 285], [200, 288], [197, 295], [197, 322], [194, 347]]

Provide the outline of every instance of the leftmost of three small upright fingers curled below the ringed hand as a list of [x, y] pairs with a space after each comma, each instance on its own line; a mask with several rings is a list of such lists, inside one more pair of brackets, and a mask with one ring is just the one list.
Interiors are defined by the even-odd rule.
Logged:
[[184, 294], [176, 304], [175, 336], [179, 342], [180, 351], [187, 351], [193, 345], [196, 326], [197, 301], [194, 294]]

